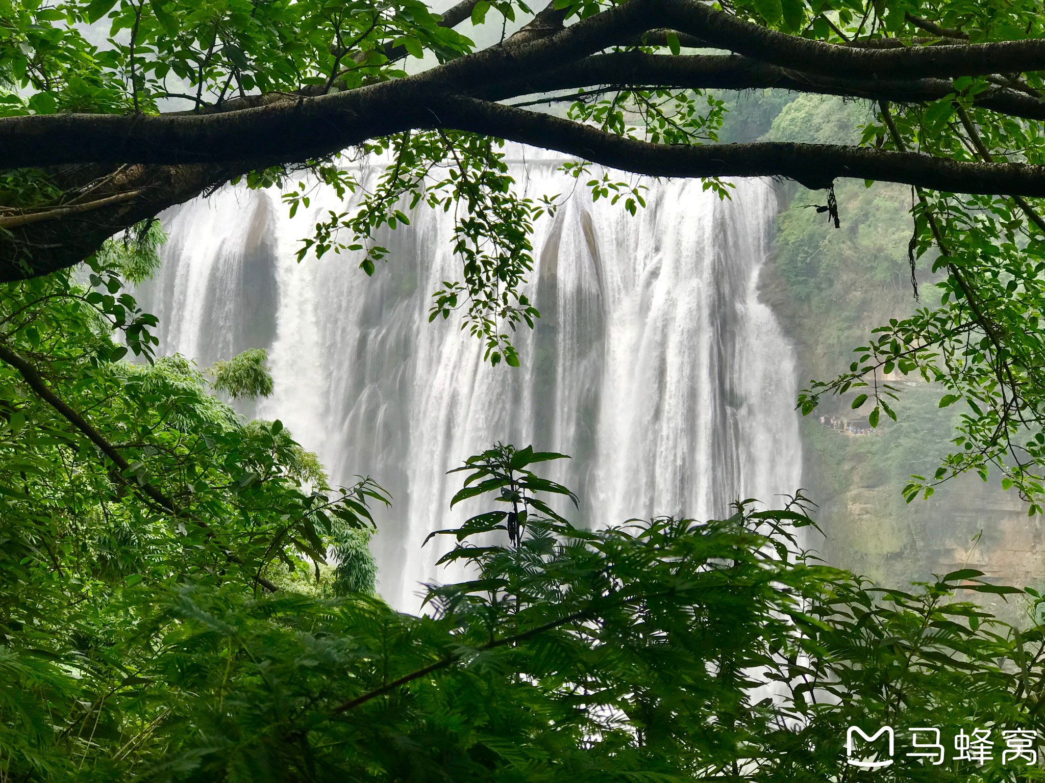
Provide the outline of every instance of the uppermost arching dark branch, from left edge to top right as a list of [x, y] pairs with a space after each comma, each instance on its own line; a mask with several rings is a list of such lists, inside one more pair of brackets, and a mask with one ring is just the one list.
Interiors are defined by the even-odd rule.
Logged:
[[[516, 79], [520, 73], [561, 68], [623, 38], [666, 24], [803, 74], [855, 78], [868, 91], [875, 90], [876, 81], [905, 80], [911, 73], [925, 77], [1045, 69], [1045, 40], [872, 51], [768, 30], [696, 0], [630, 0], [537, 41], [509, 40], [416, 76], [333, 95], [262, 96], [257, 101], [266, 105], [207, 115], [3, 118], [0, 165], [228, 163], [247, 157], [280, 163], [320, 157], [367, 138], [417, 126], [419, 115], [440, 94], [471, 92], [477, 86]], [[670, 70], [669, 66], [664, 63], [660, 70]], [[683, 61], [680, 68], [686, 67]], [[874, 78], [868, 79], [868, 74]], [[814, 89], [844, 89], [830, 81], [817, 85], [810, 76], [791, 78], [805, 79]], [[940, 89], [924, 79], [920, 84], [911, 90], [936, 95]], [[1004, 98], [1012, 109], [1014, 95], [1015, 91], [1005, 91], [991, 97]], [[1029, 96], [1025, 101], [1029, 102], [1020, 104], [1023, 114], [1041, 111], [1039, 101]]]

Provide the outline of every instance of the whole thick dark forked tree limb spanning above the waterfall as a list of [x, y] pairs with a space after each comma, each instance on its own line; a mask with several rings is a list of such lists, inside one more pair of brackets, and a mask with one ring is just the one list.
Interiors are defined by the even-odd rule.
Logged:
[[[464, 0], [438, 26], [452, 27], [477, 7]], [[922, 104], [959, 96], [966, 88], [954, 81], [958, 77], [989, 76], [996, 84], [973, 91], [970, 105], [1042, 120], [1045, 101], [1022, 89], [1019, 78], [997, 74], [1045, 70], [1043, 39], [970, 44], [918, 18], [911, 24], [920, 30], [956, 43], [840, 45], [751, 24], [696, 0], [629, 0], [563, 26], [565, 16], [551, 5], [501, 44], [413, 76], [341, 92], [320, 94], [322, 86], [305, 85], [297, 93], [241, 94], [188, 113], [2, 118], [0, 165], [49, 168], [60, 187], [76, 186], [85, 167], [94, 175], [109, 172], [113, 181], [90, 201], [0, 217], [8, 232], [0, 237], [0, 281], [70, 266], [114, 233], [247, 171], [433, 127], [511, 139], [645, 174], [783, 176], [812, 188], [853, 176], [946, 192], [1045, 195], [1045, 168], [1034, 165], [837, 145], [663, 146], [477, 100], [564, 89], [775, 88]], [[679, 43], [736, 54], [600, 53], [622, 44]], [[400, 57], [401, 47], [386, 47], [384, 55]], [[326, 84], [340, 82], [331, 76]]]

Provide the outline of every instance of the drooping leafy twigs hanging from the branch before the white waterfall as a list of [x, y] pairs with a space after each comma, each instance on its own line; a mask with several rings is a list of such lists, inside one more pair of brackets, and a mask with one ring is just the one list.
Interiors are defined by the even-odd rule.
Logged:
[[[363, 251], [359, 267], [373, 275], [375, 264], [387, 260], [388, 250], [376, 244], [374, 233], [382, 227], [408, 226], [403, 210], [421, 201], [431, 209], [455, 211], [454, 253], [462, 260], [462, 281], [444, 281], [433, 293], [429, 321], [446, 319], [464, 310], [464, 325], [486, 346], [485, 358], [497, 364], [502, 358], [518, 366], [510, 335], [518, 324], [533, 327], [540, 313], [520, 290], [533, 269], [530, 234], [533, 222], [554, 213], [555, 198], [535, 203], [519, 197], [501, 151], [501, 143], [473, 134], [407, 133], [368, 144], [368, 155], [392, 156], [392, 163], [378, 179], [373, 192], [362, 192], [354, 210], [329, 212], [316, 224], [315, 236], [305, 239], [298, 260], [309, 252], [322, 257], [329, 251]], [[332, 166], [318, 168], [320, 182], [333, 187], [339, 196], [362, 191], [352, 176]], [[284, 193], [293, 216], [307, 207], [308, 188]], [[409, 199], [409, 200], [408, 200]], [[351, 234], [351, 239], [342, 239]]]

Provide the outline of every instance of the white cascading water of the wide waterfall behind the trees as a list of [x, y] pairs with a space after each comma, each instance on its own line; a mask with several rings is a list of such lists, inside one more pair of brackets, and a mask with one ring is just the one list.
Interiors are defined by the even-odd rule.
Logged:
[[401, 609], [448, 577], [424, 537], [480, 507], [448, 512], [461, 479], [446, 471], [496, 441], [573, 455], [545, 465], [593, 525], [706, 518], [799, 485], [793, 353], [758, 300], [769, 184], [738, 181], [721, 201], [699, 181], [649, 182], [631, 217], [593, 203], [561, 160], [515, 153], [528, 194], [570, 194], [537, 226], [541, 318], [517, 333], [520, 367], [485, 364], [454, 318], [427, 323], [458, 262], [452, 215], [424, 207], [379, 238], [390, 263], [367, 278], [351, 256], [295, 261], [317, 217], [344, 208], [332, 195], [289, 219], [278, 193], [228, 188], [167, 215], [164, 265], [140, 292], [163, 353], [206, 365], [268, 348], [275, 394], [246, 412], [280, 419], [334, 481], [369, 474], [393, 493], [373, 548]]

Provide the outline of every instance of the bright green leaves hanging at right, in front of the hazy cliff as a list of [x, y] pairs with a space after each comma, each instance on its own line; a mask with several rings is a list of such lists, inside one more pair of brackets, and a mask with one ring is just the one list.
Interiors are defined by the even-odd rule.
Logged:
[[[1034, 32], [1037, 22], [1028, 16], [1028, 8], [1007, 9], [1004, 22], [991, 4], [975, 10], [945, 4], [936, 13], [947, 26], [960, 26], [959, 37], [983, 41], [1002, 29], [1006, 38], [1014, 35], [1015, 28], [1008, 25], [1015, 24], [1026, 24], [1019, 37], [1040, 35]], [[883, 35], [903, 39], [903, 20], [909, 22], [912, 13], [924, 9], [899, 5], [895, 11], [887, 10]], [[1038, 76], [1028, 78], [1026, 84], [1040, 86]], [[864, 126], [861, 142], [953, 160], [991, 162], [996, 157], [1016, 157], [1040, 163], [1038, 123], [999, 121], [973, 105], [973, 96], [992, 79], [956, 79], [952, 95], [925, 106], [890, 108], [879, 102], [877, 118]], [[1045, 487], [1040, 469], [1045, 432], [1037, 392], [1041, 387], [1037, 357], [1042, 348], [1037, 326], [1045, 270], [1041, 256], [1045, 222], [1040, 209], [1022, 198], [914, 190], [914, 232], [908, 250], [911, 281], [918, 298], [915, 259], [932, 258], [932, 271], [944, 272], [933, 286], [939, 305], [923, 307], [910, 317], [892, 318], [876, 329], [877, 336], [855, 349], [856, 361], [849, 373], [814, 383], [799, 397], [799, 406], [808, 413], [821, 395], [855, 389], [860, 404], [868, 397], [874, 401], [870, 422], [877, 426], [882, 413], [896, 420], [901, 390], [883, 376], [896, 372], [940, 384], [946, 393], [940, 407], [965, 401], [968, 412], [960, 419], [952, 453], [933, 476], [911, 477], [904, 491], [908, 501], [920, 494], [928, 497], [934, 484], [962, 473], [975, 472], [986, 480], [994, 467], [1006, 489], [1015, 487], [1029, 501], [1030, 514], [1040, 513]]]

